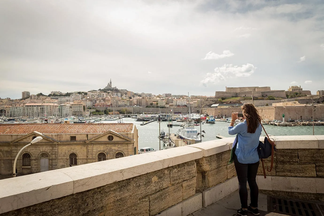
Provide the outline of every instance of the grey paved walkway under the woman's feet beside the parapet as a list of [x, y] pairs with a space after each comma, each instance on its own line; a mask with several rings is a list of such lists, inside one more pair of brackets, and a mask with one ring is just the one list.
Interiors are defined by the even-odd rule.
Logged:
[[[250, 196], [250, 195], [249, 195]], [[249, 203], [249, 199], [248, 199]], [[207, 208], [202, 208], [190, 216], [234, 216], [236, 215], [237, 209], [241, 207], [240, 198], [238, 195], [238, 190], [231, 193], [227, 197], [207, 206]], [[278, 214], [274, 212], [267, 211], [267, 195], [259, 194], [259, 210], [260, 216], [283, 216], [285, 214]], [[249, 215], [253, 215], [249, 213]]]

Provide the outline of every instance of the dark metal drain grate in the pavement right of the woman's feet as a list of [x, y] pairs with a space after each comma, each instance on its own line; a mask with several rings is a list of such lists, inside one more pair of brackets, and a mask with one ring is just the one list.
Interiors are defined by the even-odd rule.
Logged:
[[324, 216], [323, 205], [268, 196], [268, 211], [294, 216]]

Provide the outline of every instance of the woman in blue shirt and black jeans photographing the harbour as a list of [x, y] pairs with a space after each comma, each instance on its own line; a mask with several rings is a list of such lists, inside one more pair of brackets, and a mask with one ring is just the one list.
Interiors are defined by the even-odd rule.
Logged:
[[[233, 112], [232, 121], [228, 127], [228, 134], [237, 134], [238, 137], [234, 154], [234, 165], [239, 185], [238, 191], [241, 200], [241, 209], [237, 210], [237, 214], [247, 216], [249, 211], [254, 215], [259, 215], [259, 188], [256, 182], [256, 176], [259, 168], [257, 147], [262, 131], [261, 117], [257, 109], [251, 103], [244, 104], [242, 106], [242, 112], [245, 120], [233, 127], [234, 121], [237, 119], [237, 112]], [[247, 182], [250, 188], [251, 203], [249, 206], [248, 189], [246, 187]]]

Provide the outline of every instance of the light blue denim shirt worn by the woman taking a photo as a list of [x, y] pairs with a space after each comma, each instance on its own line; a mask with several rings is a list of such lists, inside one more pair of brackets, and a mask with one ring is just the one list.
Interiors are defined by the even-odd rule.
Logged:
[[259, 124], [255, 133], [248, 133], [248, 123], [246, 120], [238, 123], [235, 127], [228, 127], [229, 135], [238, 134], [238, 142], [235, 150], [238, 162], [241, 164], [253, 164], [260, 160], [257, 147], [259, 145], [261, 131], [262, 126]]

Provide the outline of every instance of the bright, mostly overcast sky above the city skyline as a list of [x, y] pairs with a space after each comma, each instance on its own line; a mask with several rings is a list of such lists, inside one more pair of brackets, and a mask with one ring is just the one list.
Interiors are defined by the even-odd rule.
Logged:
[[324, 90], [322, 0], [2, 0], [0, 97]]

